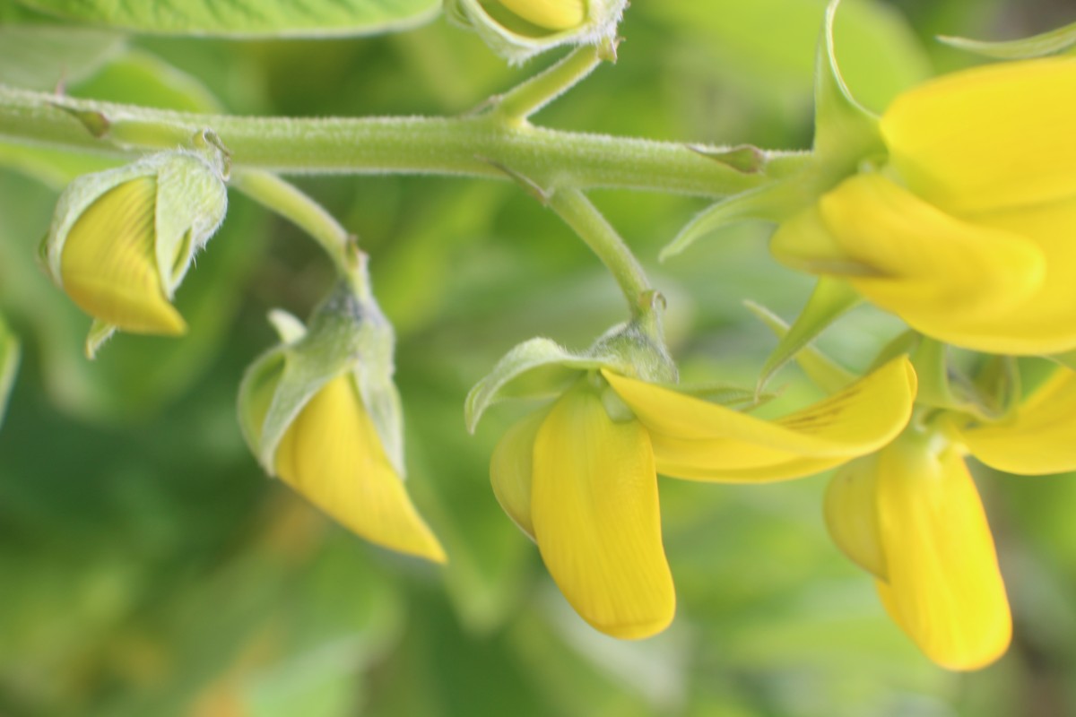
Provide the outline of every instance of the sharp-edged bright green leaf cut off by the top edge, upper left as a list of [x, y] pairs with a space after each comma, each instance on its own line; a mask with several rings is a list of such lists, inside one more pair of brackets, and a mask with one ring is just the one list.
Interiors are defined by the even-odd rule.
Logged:
[[440, 0], [22, 0], [70, 20], [158, 34], [231, 38], [353, 37], [431, 19]]

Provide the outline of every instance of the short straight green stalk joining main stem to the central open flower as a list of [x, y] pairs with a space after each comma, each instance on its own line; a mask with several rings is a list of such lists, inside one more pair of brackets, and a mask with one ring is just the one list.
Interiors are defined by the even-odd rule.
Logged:
[[606, 218], [578, 189], [557, 189], [549, 198], [549, 206], [579, 234], [591, 250], [612, 273], [620, 290], [624, 292], [633, 317], [638, 317], [649, 305], [652, 295], [647, 275], [638, 259], [627, 248]]

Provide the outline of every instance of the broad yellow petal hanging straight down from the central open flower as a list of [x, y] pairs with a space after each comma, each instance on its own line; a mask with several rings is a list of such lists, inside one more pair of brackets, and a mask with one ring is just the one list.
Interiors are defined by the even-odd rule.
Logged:
[[650, 440], [638, 421], [610, 420], [585, 384], [538, 430], [532, 518], [550, 574], [594, 628], [634, 640], [672, 620]]

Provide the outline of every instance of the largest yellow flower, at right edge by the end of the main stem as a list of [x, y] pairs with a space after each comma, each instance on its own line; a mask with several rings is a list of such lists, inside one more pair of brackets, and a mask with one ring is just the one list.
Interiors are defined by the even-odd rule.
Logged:
[[922, 333], [991, 353], [1076, 347], [1076, 59], [958, 72], [881, 117], [889, 164], [787, 221], [787, 263], [846, 277]]

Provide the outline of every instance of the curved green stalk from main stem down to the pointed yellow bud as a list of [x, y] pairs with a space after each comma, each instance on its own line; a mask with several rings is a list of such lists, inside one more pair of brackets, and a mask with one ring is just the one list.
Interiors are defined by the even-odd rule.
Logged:
[[337, 269], [353, 278], [358, 272], [355, 236], [321, 204], [295, 185], [261, 170], [237, 169], [229, 184], [258, 204], [289, 220], [322, 245]]

